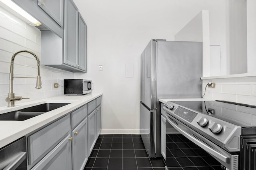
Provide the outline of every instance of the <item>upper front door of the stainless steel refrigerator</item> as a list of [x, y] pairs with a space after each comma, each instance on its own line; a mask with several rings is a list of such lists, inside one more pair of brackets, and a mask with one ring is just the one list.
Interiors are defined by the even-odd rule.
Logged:
[[150, 109], [156, 109], [156, 41], [151, 40], [142, 55], [140, 100]]

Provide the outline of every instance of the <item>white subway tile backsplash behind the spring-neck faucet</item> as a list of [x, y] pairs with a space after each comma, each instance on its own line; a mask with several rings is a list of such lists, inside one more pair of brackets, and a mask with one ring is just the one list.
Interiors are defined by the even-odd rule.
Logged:
[[[10, 61], [13, 53], [30, 50], [41, 56], [41, 31], [13, 16], [0, 7], [0, 107], [7, 106], [5, 98], [9, 93]], [[39, 100], [63, 95], [63, 87], [54, 88], [54, 83], [63, 86], [64, 78], [74, 78], [74, 73], [47, 66], [40, 66], [42, 89], [36, 89], [36, 79], [14, 78], [16, 96], [30, 98], [16, 102]], [[14, 76], [37, 76], [36, 59], [28, 53], [20, 53], [14, 59]]]

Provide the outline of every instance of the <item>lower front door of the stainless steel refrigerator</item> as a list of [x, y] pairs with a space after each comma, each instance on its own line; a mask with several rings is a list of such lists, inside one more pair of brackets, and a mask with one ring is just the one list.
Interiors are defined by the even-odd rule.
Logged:
[[156, 110], [140, 103], [140, 135], [149, 157], [155, 157]]

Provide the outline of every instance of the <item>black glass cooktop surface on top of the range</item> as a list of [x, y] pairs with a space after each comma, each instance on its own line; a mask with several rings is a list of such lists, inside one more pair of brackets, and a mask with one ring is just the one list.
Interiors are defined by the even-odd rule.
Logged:
[[256, 106], [227, 101], [172, 101], [241, 127], [256, 127]]

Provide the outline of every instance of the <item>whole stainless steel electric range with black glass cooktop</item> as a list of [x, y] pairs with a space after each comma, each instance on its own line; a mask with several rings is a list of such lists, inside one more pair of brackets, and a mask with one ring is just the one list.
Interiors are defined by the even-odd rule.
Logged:
[[256, 106], [227, 101], [172, 101], [163, 107], [166, 168], [256, 170]]

